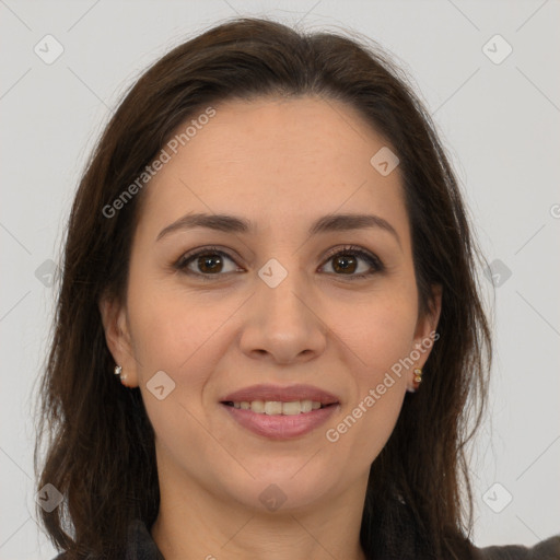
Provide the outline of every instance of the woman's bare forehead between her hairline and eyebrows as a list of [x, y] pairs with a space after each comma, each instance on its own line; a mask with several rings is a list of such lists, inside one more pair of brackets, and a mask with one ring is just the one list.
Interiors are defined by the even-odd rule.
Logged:
[[268, 226], [371, 207], [406, 220], [398, 167], [383, 176], [371, 163], [387, 142], [352, 107], [292, 97], [213, 109], [211, 118], [200, 118], [202, 109], [177, 128], [176, 153], [170, 142], [163, 147], [170, 160], [145, 189], [148, 214], [173, 221], [190, 211], [233, 213]]

